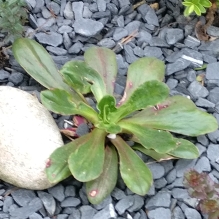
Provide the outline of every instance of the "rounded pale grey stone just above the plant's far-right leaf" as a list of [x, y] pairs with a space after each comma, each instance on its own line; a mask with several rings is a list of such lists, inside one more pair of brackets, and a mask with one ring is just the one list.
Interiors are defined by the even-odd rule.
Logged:
[[209, 94], [207, 88], [203, 87], [198, 81], [193, 81], [189, 85], [188, 91], [194, 98], [207, 97]]

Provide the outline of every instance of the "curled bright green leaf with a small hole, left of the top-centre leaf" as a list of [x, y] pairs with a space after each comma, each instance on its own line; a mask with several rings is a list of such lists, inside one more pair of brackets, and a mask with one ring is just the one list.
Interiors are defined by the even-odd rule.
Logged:
[[69, 86], [77, 92], [87, 94], [92, 91], [97, 101], [102, 98], [103, 79], [87, 63], [69, 61], [60, 70]]

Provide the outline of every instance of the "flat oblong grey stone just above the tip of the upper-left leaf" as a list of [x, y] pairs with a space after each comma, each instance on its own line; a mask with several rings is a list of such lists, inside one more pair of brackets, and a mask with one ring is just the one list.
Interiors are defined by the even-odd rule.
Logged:
[[49, 32], [49, 33], [37, 33], [35, 34], [36, 39], [39, 43], [46, 44], [49, 46], [59, 46], [63, 42], [62, 35], [56, 32]]

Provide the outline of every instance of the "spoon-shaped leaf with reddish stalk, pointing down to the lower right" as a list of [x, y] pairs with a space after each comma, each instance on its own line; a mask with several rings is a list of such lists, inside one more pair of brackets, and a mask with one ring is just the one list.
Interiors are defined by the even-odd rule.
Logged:
[[120, 136], [110, 140], [118, 151], [120, 173], [125, 184], [132, 192], [145, 195], [153, 180], [150, 169]]

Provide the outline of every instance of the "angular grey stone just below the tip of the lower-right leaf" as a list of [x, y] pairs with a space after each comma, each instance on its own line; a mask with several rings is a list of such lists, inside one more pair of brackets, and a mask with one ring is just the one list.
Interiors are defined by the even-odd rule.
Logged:
[[168, 191], [160, 191], [147, 201], [145, 207], [148, 210], [154, 209], [156, 207], [169, 208], [170, 204], [171, 204], [171, 193]]

